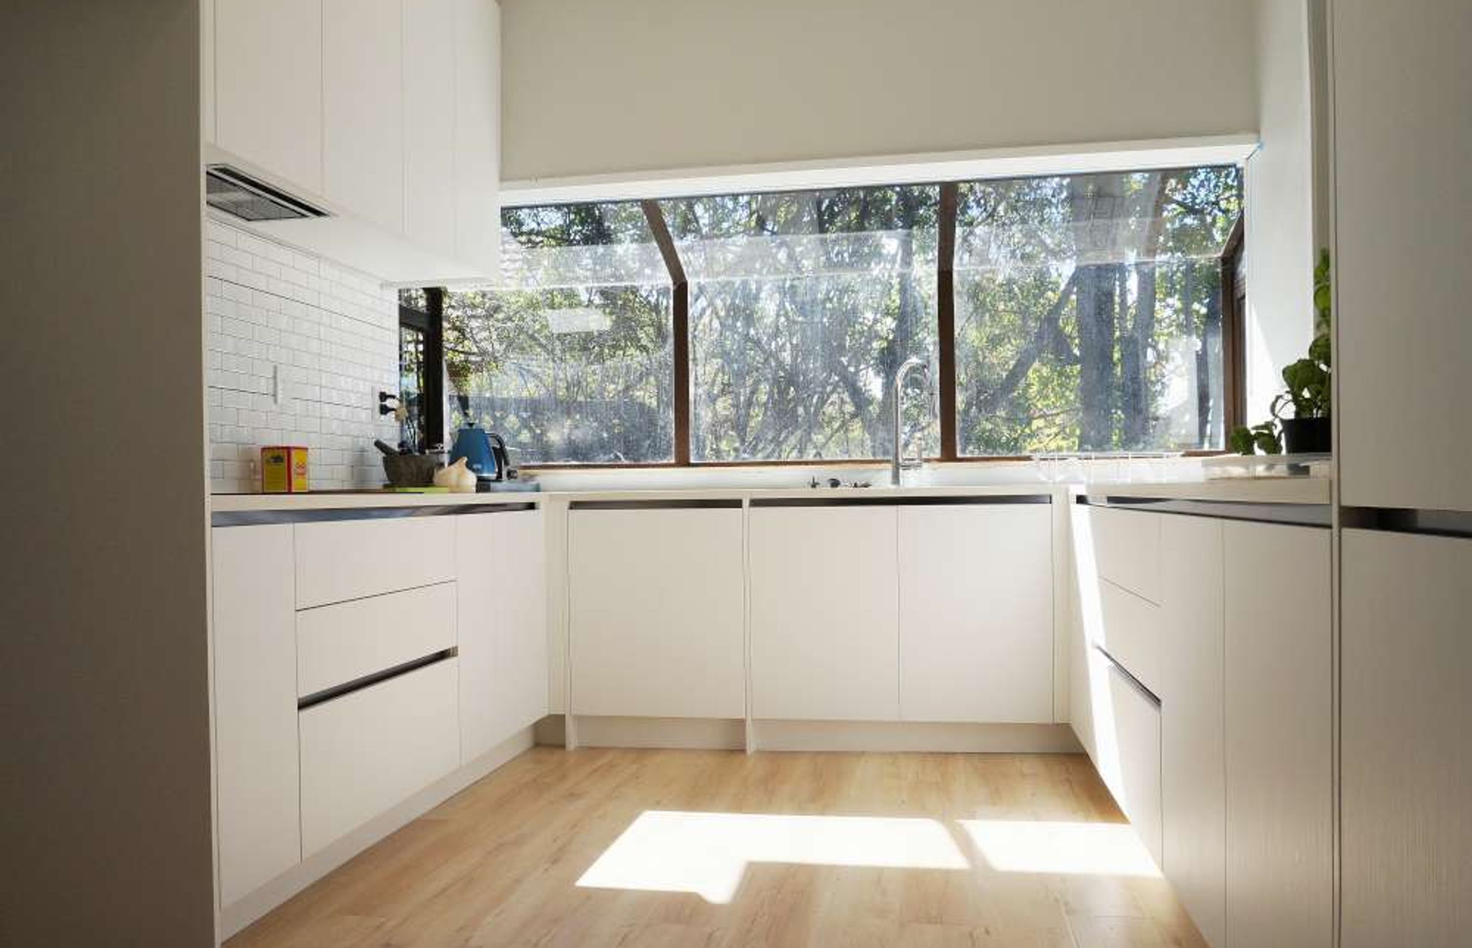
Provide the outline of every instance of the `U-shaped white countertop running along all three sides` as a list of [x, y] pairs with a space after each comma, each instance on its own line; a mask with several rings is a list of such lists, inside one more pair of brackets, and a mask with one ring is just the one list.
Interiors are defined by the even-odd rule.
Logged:
[[1201, 481], [1054, 484], [1045, 481], [1008, 484], [946, 484], [923, 487], [689, 487], [655, 490], [548, 490], [498, 493], [218, 493], [210, 509], [319, 511], [381, 506], [462, 506], [477, 503], [546, 503], [571, 500], [746, 500], [779, 498], [955, 498], [1052, 493], [1172, 498], [1191, 500], [1236, 500], [1248, 503], [1328, 503], [1331, 481], [1322, 477], [1257, 477]]

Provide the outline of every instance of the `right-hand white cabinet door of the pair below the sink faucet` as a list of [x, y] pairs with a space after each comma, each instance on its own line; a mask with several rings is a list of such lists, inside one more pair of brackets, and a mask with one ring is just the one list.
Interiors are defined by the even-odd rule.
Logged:
[[899, 508], [899, 715], [1052, 721], [1052, 508]]

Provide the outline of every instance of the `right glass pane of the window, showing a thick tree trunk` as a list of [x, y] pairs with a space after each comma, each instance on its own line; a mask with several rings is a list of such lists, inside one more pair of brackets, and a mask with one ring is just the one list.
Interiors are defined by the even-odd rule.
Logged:
[[1222, 448], [1235, 168], [960, 185], [963, 456]]

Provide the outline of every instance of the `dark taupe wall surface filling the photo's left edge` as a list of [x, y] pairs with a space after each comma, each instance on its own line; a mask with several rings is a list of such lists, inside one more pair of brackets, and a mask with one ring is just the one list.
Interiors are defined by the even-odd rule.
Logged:
[[0, 37], [0, 944], [209, 945], [199, 3]]

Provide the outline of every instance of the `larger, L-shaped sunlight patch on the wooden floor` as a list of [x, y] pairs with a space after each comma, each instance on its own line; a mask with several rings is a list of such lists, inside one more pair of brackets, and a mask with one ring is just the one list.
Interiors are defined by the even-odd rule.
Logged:
[[729, 904], [752, 863], [867, 869], [955, 869], [970, 863], [938, 820], [649, 810], [577, 885], [692, 892]]

